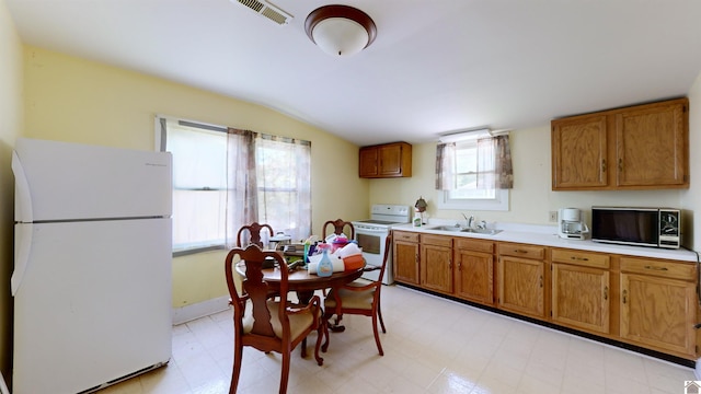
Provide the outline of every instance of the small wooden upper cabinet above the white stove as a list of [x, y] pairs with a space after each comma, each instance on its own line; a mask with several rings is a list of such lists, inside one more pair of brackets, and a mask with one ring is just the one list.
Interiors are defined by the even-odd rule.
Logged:
[[412, 146], [406, 142], [363, 147], [359, 159], [360, 177], [412, 176]]

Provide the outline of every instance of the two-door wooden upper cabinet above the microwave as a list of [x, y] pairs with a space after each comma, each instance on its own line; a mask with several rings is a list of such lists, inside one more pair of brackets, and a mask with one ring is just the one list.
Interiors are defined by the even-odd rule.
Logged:
[[552, 120], [552, 189], [689, 187], [689, 101]]

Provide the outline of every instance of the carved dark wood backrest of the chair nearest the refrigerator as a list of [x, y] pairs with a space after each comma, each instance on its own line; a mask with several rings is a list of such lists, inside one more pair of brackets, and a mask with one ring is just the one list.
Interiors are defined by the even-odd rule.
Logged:
[[[233, 276], [238, 275], [235, 273], [235, 264], [238, 264], [239, 260], [234, 262], [237, 255], [240, 257], [240, 260], [243, 260], [241, 264], [245, 265], [245, 278], [242, 281], [241, 294], [237, 291], [233, 279]], [[261, 345], [261, 341], [265, 341], [264, 337], [268, 337], [275, 344], [280, 339], [273, 331], [273, 324], [271, 323], [272, 312], [267, 304], [269, 296], [273, 292], [268, 283], [263, 279], [263, 263], [266, 258], [274, 258], [279, 265], [279, 269], [276, 269], [276, 273], [279, 271], [280, 275], [280, 291], [275, 294], [279, 297], [279, 305], [285, 305], [287, 303], [288, 271], [287, 264], [279, 253], [275, 251], [262, 251], [257, 245], [251, 244], [245, 248], [234, 247], [229, 251], [225, 263], [227, 286], [229, 288], [229, 296], [231, 297], [230, 303], [233, 306], [237, 335], [243, 335], [244, 333], [243, 318], [246, 312], [246, 302], [250, 301], [253, 306], [251, 310], [253, 314], [253, 327], [246, 335], [257, 336], [257, 345]], [[283, 328], [281, 338], [289, 338], [289, 320], [285, 313], [285, 308], [278, 308], [277, 310]]]

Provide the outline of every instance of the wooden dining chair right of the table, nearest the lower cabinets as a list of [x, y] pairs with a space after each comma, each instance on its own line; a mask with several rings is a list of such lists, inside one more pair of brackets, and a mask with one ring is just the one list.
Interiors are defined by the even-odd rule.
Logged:
[[[380, 321], [382, 333], [387, 333], [384, 322], [382, 321], [382, 311], [380, 310], [380, 291], [382, 290], [382, 277], [384, 276], [384, 268], [387, 268], [387, 260], [391, 250], [392, 233], [387, 236], [384, 243], [382, 266], [366, 267], [366, 270], [381, 269], [378, 279], [369, 282], [366, 279], [357, 279], [343, 287], [332, 289], [324, 301], [324, 327], [329, 327], [329, 321], [334, 314], [336, 315], [336, 326], [344, 314], [357, 314], [371, 317], [375, 343], [377, 344], [377, 350], [380, 352], [380, 356], [384, 356], [384, 351], [380, 343], [377, 322], [378, 320]], [[326, 335], [326, 341], [321, 348], [322, 351], [329, 349], [329, 329], [325, 329], [324, 334]]]

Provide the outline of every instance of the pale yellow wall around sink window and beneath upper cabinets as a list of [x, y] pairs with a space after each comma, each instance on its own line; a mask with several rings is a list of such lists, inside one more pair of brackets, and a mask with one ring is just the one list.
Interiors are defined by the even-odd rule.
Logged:
[[[697, 83], [699, 85], [701, 83]], [[697, 88], [701, 91], [701, 88]], [[701, 93], [700, 93], [701, 94]], [[693, 101], [693, 97], [691, 97]], [[693, 111], [696, 120], [691, 126], [692, 144], [698, 146], [698, 128], [701, 123], [700, 111]], [[549, 222], [549, 211], [559, 208], [575, 207], [589, 211], [591, 206], [669, 206], [693, 210], [690, 198], [682, 204], [685, 190], [629, 190], [629, 192], [552, 192], [550, 163], [550, 125], [532, 129], [514, 130], [510, 134], [512, 160], [514, 165], [514, 188], [510, 192], [508, 211], [439, 210], [436, 205], [435, 185], [436, 143], [413, 146], [413, 177], [402, 179], [370, 181], [370, 204], [405, 204], [413, 206], [420, 196], [428, 202], [430, 218], [464, 221], [461, 212], [474, 215], [478, 220], [489, 222], [515, 222], [528, 224], [553, 224]], [[701, 172], [701, 158], [694, 158], [691, 149], [693, 174]], [[698, 154], [697, 154], [698, 155]], [[694, 171], [696, 170], [696, 171]], [[692, 181], [692, 185], [697, 185]], [[701, 186], [698, 186], [701, 190]], [[701, 194], [701, 192], [698, 192]], [[698, 200], [698, 198], [697, 198]], [[587, 213], [588, 215], [588, 213]], [[589, 218], [587, 217], [587, 220]]]

